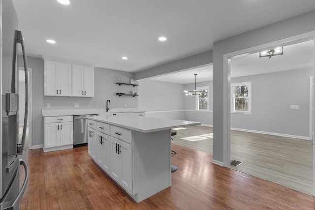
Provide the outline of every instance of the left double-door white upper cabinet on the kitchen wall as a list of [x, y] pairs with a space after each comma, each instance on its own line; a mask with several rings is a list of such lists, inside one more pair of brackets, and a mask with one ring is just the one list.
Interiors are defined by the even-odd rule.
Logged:
[[45, 60], [45, 96], [71, 96], [71, 64]]

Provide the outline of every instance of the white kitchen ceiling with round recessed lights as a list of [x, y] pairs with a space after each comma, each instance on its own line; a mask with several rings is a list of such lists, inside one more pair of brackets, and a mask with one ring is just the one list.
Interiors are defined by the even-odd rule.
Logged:
[[129, 72], [210, 50], [216, 41], [315, 9], [314, 0], [70, 2], [13, 0], [28, 55]]

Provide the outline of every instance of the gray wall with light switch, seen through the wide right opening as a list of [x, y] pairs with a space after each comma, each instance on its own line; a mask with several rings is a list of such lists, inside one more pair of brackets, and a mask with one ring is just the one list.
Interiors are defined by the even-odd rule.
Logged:
[[252, 114], [231, 113], [231, 128], [308, 137], [312, 75], [313, 69], [298, 69], [231, 78], [231, 83], [252, 81]]

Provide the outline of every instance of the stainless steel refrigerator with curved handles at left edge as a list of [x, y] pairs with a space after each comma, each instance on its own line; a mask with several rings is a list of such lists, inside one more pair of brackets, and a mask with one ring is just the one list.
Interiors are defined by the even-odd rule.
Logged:
[[[23, 153], [28, 113], [27, 61], [22, 32], [12, 0], [0, 0], [0, 210], [18, 210], [28, 181]], [[21, 51], [21, 52], [19, 52]], [[22, 53], [25, 70], [25, 115], [22, 141], [19, 142], [18, 55]], [[25, 178], [20, 189], [20, 165]], [[22, 168], [22, 167], [21, 167]]]

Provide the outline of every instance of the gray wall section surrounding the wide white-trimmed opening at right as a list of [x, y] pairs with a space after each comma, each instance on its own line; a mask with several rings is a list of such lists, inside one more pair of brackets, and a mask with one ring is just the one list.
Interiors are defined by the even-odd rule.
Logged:
[[[213, 44], [213, 160], [224, 162], [228, 138], [227, 73], [223, 71], [224, 54], [315, 31], [315, 11], [252, 30]], [[227, 158], [227, 156], [225, 156]], [[226, 162], [229, 161], [226, 159]]]

